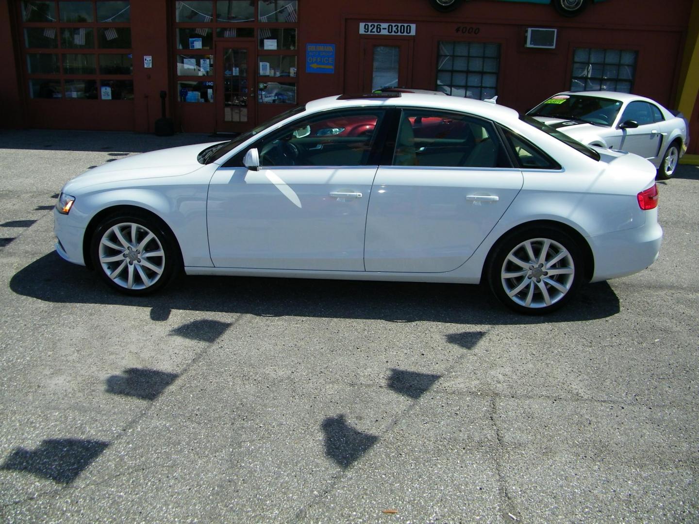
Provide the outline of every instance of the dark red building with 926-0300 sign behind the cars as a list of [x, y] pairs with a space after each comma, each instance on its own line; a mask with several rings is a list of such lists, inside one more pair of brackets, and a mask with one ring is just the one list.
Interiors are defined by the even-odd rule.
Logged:
[[152, 132], [161, 91], [177, 131], [208, 132], [384, 86], [517, 110], [606, 88], [683, 110], [699, 153], [696, 0], [542, 1], [0, 0], [2, 126]]

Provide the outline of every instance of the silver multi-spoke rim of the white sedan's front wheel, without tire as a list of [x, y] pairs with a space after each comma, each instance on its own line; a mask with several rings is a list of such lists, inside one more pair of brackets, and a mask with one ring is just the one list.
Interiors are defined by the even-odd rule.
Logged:
[[134, 222], [110, 227], [99, 241], [99, 262], [115, 284], [145, 289], [165, 270], [165, 252], [157, 236]]

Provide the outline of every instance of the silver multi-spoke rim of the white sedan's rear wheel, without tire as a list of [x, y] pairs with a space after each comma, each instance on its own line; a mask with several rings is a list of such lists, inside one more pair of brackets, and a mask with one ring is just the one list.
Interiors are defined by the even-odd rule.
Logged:
[[521, 242], [505, 257], [500, 281], [515, 303], [547, 307], [563, 298], [575, 280], [575, 264], [568, 249], [549, 238]]

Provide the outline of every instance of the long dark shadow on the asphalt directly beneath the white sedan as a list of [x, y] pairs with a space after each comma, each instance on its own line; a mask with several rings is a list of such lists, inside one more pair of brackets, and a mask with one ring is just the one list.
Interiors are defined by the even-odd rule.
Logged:
[[466, 284], [182, 275], [164, 291], [132, 298], [109, 289], [94, 271], [68, 263], [55, 252], [19, 270], [10, 279], [10, 289], [50, 303], [151, 307], [154, 321], [168, 319], [172, 310], [187, 310], [500, 325], [585, 321], [619, 312], [619, 298], [606, 282], [582, 286], [566, 307], [545, 316], [510, 312], [483, 286]]

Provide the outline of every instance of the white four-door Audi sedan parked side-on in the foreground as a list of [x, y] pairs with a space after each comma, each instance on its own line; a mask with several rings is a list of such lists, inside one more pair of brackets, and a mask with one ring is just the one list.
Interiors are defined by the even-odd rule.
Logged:
[[501, 105], [312, 101], [235, 140], [127, 157], [62, 189], [56, 249], [129, 295], [187, 275], [486, 283], [542, 313], [658, 256], [655, 168]]

